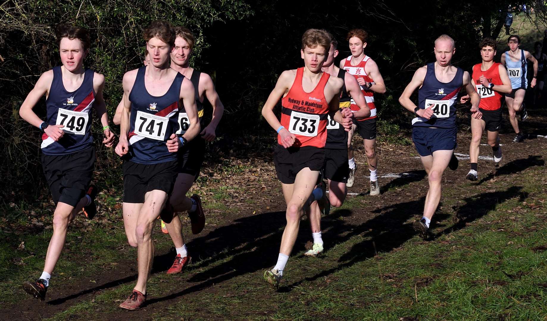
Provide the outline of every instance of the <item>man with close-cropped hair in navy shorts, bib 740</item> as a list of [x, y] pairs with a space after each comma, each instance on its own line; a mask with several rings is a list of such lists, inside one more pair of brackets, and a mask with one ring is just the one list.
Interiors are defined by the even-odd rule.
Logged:
[[[472, 116], [480, 118], [480, 97], [469, 73], [452, 66], [454, 40], [443, 34], [435, 40], [434, 50], [437, 62], [416, 70], [399, 98], [404, 108], [417, 115], [412, 120], [412, 140], [429, 180], [423, 217], [413, 225], [423, 239], [428, 237], [429, 223], [441, 198], [441, 179], [457, 146], [456, 101], [462, 87], [469, 94]], [[410, 100], [417, 88], [418, 107]]]

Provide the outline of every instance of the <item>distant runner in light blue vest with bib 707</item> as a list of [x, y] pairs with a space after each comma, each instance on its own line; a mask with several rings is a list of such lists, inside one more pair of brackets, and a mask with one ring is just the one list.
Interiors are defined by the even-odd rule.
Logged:
[[538, 61], [528, 51], [519, 49], [520, 37], [518, 35], [510, 35], [507, 43], [510, 50], [502, 53], [502, 65], [507, 68], [513, 91], [505, 94], [505, 104], [507, 104], [507, 108], [509, 109], [509, 122], [516, 134], [513, 142], [521, 142], [526, 139], [527, 135], [520, 132], [516, 114], [517, 112], [519, 113], [521, 121], [525, 121], [528, 118], [528, 112], [526, 112], [524, 105], [524, 95], [528, 87], [528, 64], [526, 60], [534, 64], [534, 76], [530, 82], [532, 88], [536, 86]]

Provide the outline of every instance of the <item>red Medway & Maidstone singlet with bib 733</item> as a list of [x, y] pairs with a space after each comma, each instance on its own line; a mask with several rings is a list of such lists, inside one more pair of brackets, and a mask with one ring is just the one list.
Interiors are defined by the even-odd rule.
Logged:
[[[325, 147], [329, 104], [325, 85], [330, 75], [323, 73], [312, 92], [302, 88], [304, 67], [296, 69], [296, 78], [287, 96], [281, 99], [281, 125], [296, 136], [294, 146]], [[277, 142], [281, 145], [281, 135]]]

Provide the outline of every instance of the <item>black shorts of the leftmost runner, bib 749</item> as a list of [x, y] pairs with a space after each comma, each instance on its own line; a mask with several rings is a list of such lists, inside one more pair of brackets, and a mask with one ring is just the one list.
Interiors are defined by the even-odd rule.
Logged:
[[66, 155], [42, 153], [42, 168], [55, 205], [76, 206], [88, 190], [95, 165], [95, 148]]

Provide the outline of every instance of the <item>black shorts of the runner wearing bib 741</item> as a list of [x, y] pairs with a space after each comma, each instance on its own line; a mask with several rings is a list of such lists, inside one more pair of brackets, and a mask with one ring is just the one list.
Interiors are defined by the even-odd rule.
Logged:
[[159, 164], [138, 164], [125, 160], [124, 203], [144, 203], [144, 195], [154, 189], [171, 195], [177, 168], [178, 160]]

